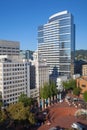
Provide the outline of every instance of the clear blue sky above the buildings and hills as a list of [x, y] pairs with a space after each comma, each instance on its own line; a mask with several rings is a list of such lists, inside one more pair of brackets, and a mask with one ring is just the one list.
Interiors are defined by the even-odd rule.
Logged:
[[87, 0], [0, 0], [0, 40], [19, 41], [20, 49], [37, 49], [38, 26], [68, 10], [76, 26], [76, 50], [87, 49]]

